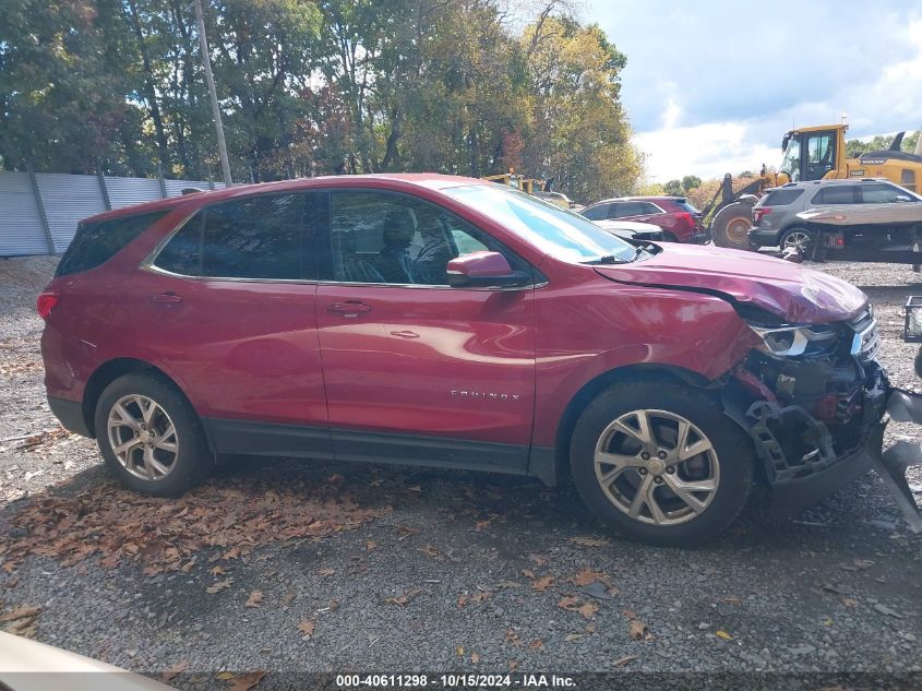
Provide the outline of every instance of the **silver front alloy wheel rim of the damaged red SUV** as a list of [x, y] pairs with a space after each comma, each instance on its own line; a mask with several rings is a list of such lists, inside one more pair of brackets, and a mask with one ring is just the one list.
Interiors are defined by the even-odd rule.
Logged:
[[668, 410], [625, 413], [602, 430], [596, 479], [608, 500], [640, 523], [678, 525], [710, 505], [720, 485], [714, 444]]

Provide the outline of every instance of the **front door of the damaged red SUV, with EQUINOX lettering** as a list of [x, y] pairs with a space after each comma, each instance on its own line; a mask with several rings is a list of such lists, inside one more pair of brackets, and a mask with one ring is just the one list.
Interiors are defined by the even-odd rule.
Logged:
[[523, 260], [405, 194], [334, 190], [318, 333], [337, 458], [525, 473], [535, 406], [534, 287], [451, 288], [478, 250]]

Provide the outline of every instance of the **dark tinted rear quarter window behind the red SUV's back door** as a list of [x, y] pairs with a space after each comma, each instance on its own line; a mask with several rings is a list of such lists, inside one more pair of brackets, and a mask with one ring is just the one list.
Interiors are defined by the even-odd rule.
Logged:
[[96, 269], [170, 211], [157, 211], [97, 223], [81, 223], [64, 255], [58, 262], [55, 275], [67, 276]]

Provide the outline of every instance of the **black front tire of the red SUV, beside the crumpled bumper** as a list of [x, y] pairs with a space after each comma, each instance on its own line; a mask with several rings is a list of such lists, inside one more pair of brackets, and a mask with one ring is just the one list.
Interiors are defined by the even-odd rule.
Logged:
[[[614, 420], [642, 409], [657, 412], [650, 414], [652, 427], [658, 425], [656, 416], [660, 414], [659, 412], [684, 418], [693, 428], [697, 428], [703, 433], [705, 442], [710, 443], [714, 456], [710, 452], [703, 452], [685, 462], [697, 463], [698, 467], [709, 467], [711, 475], [717, 474], [716, 491], [708, 495], [709, 499], [706, 502], [701, 502], [705, 504], [705, 508], [702, 510], [699, 507], [699, 512], [681, 500], [666, 484], [666, 481], [674, 481], [675, 478], [685, 479], [683, 475], [691, 466], [684, 463], [680, 464], [683, 467], [676, 466], [674, 470], [666, 472], [671, 479], [666, 476], [661, 467], [662, 463], [658, 464], [652, 472], [646, 470], [644, 476], [639, 475], [644, 472], [640, 469], [626, 470], [609, 485], [609, 491], [616, 495], [614, 499], [609, 498], [602, 489], [601, 480], [596, 475], [596, 446], [603, 443], [602, 434]], [[658, 433], [661, 436], [660, 440], [664, 439], [668, 432], [669, 428], [663, 420]], [[614, 433], [620, 434], [620, 432]], [[622, 438], [636, 443], [636, 440], [627, 436], [622, 436]], [[693, 431], [690, 432], [687, 439], [701, 438]], [[662, 444], [657, 445], [662, 446]], [[693, 445], [697, 445], [697, 442], [693, 442]], [[638, 444], [638, 448], [642, 446]], [[611, 449], [607, 450], [611, 451]], [[628, 452], [627, 455], [631, 453]], [[639, 458], [639, 455], [635, 456], [638, 462]], [[656, 458], [649, 458], [646, 463], [647, 468], [652, 468], [654, 466], [649, 464], [655, 464]], [[752, 440], [723, 414], [719, 404], [711, 400], [708, 393], [668, 381], [624, 382], [614, 384], [600, 393], [576, 421], [570, 448], [570, 467], [574, 485], [589, 511], [599, 521], [630, 539], [670, 547], [693, 547], [720, 535], [737, 519], [746, 503], [752, 486], [754, 463], [755, 450]], [[603, 468], [602, 465], [599, 467]], [[603, 474], [604, 472], [602, 470]], [[628, 474], [633, 474], [633, 477]], [[658, 507], [660, 510], [663, 507], [676, 507], [670, 512], [663, 511], [662, 515], [669, 519], [671, 514], [673, 517], [670, 520], [684, 520], [684, 522], [657, 525], [650, 523], [654, 516], [647, 504], [644, 508], [648, 515], [642, 515], [639, 519], [628, 515], [630, 507], [619, 507], [616, 503], [620, 501], [619, 497], [624, 500], [624, 503], [632, 499], [628, 496], [630, 482], [643, 482], [645, 476], [650, 476], [651, 481], [661, 481], [659, 485], [661, 489], [656, 489], [656, 486], [651, 485], [654, 503], [662, 502]], [[713, 478], [705, 478], [705, 480], [713, 481]], [[618, 482], [622, 481], [628, 482], [625, 495], [621, 493], [624, 490], [618, 486]], [[656, 499], [657, 497], [659, 500]], [[697, 497], [699, 498], [701, 495]], [[685, 504], [686, 509], [683, 510], [681, 504]], [[682, 519], [683, 511], [690, 517]]]

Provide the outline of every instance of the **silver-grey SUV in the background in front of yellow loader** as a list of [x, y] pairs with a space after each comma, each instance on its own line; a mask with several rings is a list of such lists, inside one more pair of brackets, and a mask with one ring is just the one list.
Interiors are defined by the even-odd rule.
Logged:
[[817, 249], [911, 251], [922, 198], [888, 180], [789, 182], [766, 191], [752, 221], [755, 247], [795, 249], [809, 258]]

